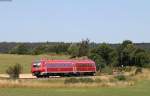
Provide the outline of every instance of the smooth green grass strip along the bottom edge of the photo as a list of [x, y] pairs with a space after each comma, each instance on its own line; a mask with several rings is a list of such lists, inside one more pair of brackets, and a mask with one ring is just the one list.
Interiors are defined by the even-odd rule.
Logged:
[[150, 81], [123, 88], [0, 88], [0, 96], [150, 96]]

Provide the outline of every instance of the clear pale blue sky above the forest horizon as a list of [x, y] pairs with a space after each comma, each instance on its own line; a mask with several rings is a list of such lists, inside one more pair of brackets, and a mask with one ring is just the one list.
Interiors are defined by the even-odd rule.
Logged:
[[150, 42], [150, 0], [0, 0], [0, 42]]

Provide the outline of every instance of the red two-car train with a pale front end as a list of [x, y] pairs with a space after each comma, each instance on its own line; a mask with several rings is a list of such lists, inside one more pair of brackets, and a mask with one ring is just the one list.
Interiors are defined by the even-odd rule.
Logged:
[[92, 60], [39, 60], [32, 63], [31, 72], [36, 77], [95, 75]]

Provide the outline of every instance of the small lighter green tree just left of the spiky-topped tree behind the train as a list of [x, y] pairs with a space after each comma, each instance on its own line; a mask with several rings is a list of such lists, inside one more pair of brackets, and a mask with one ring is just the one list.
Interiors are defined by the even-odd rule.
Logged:
[[72, 43], [68, 48], [68, 53], [71, 55], [71, 58], [75, 58], [79, 54], [79, 46], [77, 44]]

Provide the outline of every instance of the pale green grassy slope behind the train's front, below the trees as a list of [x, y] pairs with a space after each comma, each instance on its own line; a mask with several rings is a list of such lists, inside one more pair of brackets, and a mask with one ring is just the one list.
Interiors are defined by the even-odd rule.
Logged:
[[5, 70], [8, 66], [12, 64], [22, 64], [23, 73], [30, 73], [31, 63], [33, 60], [40, 58], [49, 58], [49, 59], [67, 59], [68, 56], [49, 56], [49, 55], [10, 55], [10, 54], [0, 54], [0, 74], [5, 73]]

